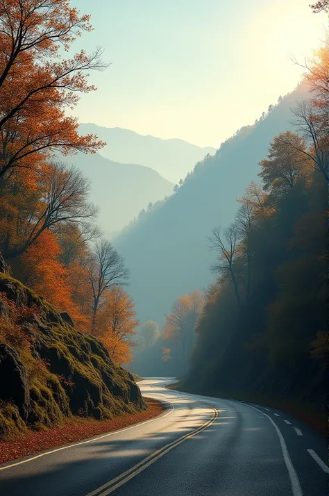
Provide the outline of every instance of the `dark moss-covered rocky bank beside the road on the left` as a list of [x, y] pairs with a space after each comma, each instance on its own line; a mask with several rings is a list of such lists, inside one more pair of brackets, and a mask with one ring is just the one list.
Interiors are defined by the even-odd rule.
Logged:
[[99, 340], [74, 329], [67, 313], [2, 273], [0, 319], [10, 322], [8, 300], [24, 309], [19, 329], [29, 346], [23, 353], [6, 338], [0, 343], [0, 424], [8, 402], [35, 427], [72, 414], [106, 419], [146, 408], [133, 376], [112, 363]]

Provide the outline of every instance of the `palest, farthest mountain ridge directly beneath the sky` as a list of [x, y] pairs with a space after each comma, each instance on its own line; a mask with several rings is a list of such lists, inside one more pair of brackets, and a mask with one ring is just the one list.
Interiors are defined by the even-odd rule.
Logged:
[[121, 163], [137, 163], [151, 167], [168, 181], [178, 183], [190, 172], [196, 162], [207, 154], [214, 154], [212, 147], [197, 147], [183, 140], [161, 140], [142, 136], [128, 129], [105, 128], [96, 124], [81, 124], [83, 134], [95, 133], [107, 143], [101, 155]]

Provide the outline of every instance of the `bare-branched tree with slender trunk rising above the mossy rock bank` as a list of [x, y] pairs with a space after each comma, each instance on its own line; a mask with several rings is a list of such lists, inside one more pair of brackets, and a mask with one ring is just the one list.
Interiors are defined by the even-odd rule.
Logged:
[[92, 332], [96, 326], [96, 314], [99, 311], [106, 292], [112, 286], [120, 286], [129, 278], [123, 258], [108, 241], [102, 238], [90, 254], [87, 263], [88, 280], [92, 292]]

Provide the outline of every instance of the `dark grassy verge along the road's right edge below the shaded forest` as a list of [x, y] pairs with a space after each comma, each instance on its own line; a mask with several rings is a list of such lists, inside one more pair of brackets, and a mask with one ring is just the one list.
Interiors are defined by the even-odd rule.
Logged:
[[212, 396], [223, 399], [237, 399], [238, 401], [255, 403], [262, 406], [269, 406], [270, 408], [276, 408], [282, 412], [289, 413], [293, 415], [296, 419], [305, 422], [309, 427], [314, 429], [320, 436], [328, 436], [328, 413], [326, 411], [320, 412], [314, 404], [303, 403], [298, 398], [290, 399], [278, 399], [266, 397], [264, 395], [248, 395], [235, 393], [231, 395], [221, 394], [217, 391], [200, 391], [194, 390], [194, 388], [189, 388], [185, 384], [180, 382], [171, 384], [167, 388], [172, 390], [179, 390], [190, 392], [195, 395], [205, 395]]

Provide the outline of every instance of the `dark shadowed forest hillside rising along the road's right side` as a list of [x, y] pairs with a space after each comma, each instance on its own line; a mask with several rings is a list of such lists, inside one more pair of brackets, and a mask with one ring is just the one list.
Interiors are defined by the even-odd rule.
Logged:
[[230, 397], [324, 408], [328, 383], [328, 49], [305, 76], [312, 99], [292, 110], [297, 133], [273, 138], [217, 255], [183, 383]]

